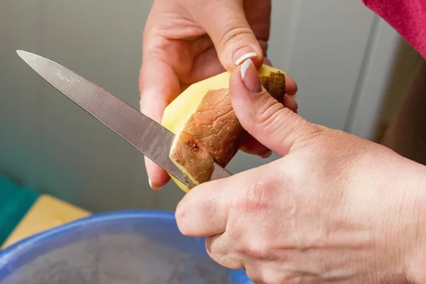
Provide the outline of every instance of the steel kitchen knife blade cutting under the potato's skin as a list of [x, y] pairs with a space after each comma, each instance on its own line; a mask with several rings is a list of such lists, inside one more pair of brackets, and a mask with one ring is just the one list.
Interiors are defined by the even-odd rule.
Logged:
[[[187, 187], [194, 184], [170, 160], [175, 134], [141, 111], [84, 79], [75, 72], [39, 55], [17, 50], [18, 55], [62, 94], [124, 138], [148, 158]], [[211, 180], [229, 177], [231, 173], [214, 163]]]

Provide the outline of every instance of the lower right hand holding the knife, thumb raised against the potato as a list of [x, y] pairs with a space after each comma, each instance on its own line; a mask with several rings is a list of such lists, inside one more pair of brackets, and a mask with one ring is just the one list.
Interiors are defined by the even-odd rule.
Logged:
[[305, 121], [249, 60], [241, 70], [236, 116], [283, 158], [193, 188], [176, 210], [182, 234], [207, 236], [214, 261], [255, 283], [425, 283], [425, 167]]

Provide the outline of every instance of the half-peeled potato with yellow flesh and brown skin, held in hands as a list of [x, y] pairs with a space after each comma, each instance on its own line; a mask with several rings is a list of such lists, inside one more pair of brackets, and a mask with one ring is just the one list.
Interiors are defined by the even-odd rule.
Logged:
[[[285, 72], [263, 65], [258, 75], [263, 87], [281, 102]], [[230, 72], [223, 72], [192, 84], [163, 114], [161, 124], [176, 135], [170, 159], [195, 185], [211, 179], [214, 162], [225, 167], [248, 136], [231, 106], [230, 77]], [[170, 177], [184, 192], [190, 190]]]

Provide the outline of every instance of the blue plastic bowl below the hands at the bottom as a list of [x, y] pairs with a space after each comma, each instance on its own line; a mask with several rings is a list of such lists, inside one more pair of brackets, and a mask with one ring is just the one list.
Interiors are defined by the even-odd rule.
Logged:
[[173, 212], [94, 214], [0, 252], [2, 284], [249, 284], [183, 236]]

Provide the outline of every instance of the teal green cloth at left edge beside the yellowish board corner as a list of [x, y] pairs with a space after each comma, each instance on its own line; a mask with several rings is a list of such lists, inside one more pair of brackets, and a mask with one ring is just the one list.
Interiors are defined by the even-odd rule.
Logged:
[[39, 195], [31, 187], [16, 185], [0, 176], [0, 245], [6, 241]]

